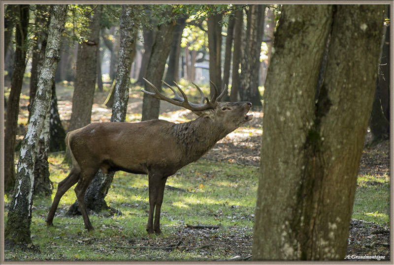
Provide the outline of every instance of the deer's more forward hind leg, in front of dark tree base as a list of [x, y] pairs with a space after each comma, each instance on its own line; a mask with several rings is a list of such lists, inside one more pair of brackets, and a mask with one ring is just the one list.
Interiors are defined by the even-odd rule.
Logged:
[[78, 206], [82, 213], [83, 222], [85, 224], [85, 228], [88, 231], [93, 231], [95, 229], [93, 228], [92, 223], [89, 220], [88, 213], [86, 211], [85, 192], [89, 184], [92, 182], [93, 177], [95, 177], [97, 171], [98, 170], [82, 171], [81, 178], [74, 189], [78, 200]]

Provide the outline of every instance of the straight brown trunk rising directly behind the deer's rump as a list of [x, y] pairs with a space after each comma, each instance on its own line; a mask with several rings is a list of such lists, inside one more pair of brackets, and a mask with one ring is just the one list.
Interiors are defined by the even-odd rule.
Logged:
[[[94, 8], [94, 5], [92, 5]], [[78, 44], [77, 70], [75, 88], [72, 96], [72, 113], [69, 130], [81, 128], [91, 122], [92, 105], [97, 79], [97, 49], [99, 49], [99, 32], [102, 5], [91, 14], [88, 40]]]

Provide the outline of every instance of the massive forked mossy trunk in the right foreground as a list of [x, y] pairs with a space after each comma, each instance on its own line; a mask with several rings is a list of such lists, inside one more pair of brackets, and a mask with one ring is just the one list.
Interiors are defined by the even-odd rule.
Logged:
[[283, 7], [264, 92], [255, 260], [344, 259], [377, 78], [382, 11], [381, 5]]

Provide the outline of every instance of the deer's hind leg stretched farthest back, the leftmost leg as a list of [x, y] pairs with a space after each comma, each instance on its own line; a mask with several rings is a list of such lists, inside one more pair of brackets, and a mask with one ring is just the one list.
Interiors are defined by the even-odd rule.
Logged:
[[55, 216], [55, 212], [58, 208], [60, 199], [66, 193], [66, 191], [72, 187], [72, 185], [78, 182], [80, 173], [81, 172], [79, 169], [73, 167], [70, 171], [70, 174], [68, 174], [68, 176], [59, 183], [58, 190], [56, 191], [52, 206], [49, 209], [48, 216], [46, 217], [47, 225], [52, 225], [53, 217]]

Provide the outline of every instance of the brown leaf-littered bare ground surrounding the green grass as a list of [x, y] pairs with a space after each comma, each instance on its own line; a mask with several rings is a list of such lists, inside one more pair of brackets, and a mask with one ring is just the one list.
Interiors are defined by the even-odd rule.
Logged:
[[[105, 99], [104, 93], [98, 93], [92, 111], [92, 121], [109, 121], [111, 110], [102, 106]], [[58, 92], [59, 113], [65, 128], [71, 114], [71, 95], [66, 90]], [[140, 96], [131, 93], [128, 107], [128, 120], [138, 120], [141, 113], [142, 100]], [[21, 109], [27, 109], [27, 100], [21, 98]], [[161, 118], [174, 122], [182, 122], [186, 119], [193, 119], [194, 114], [189, 111], [182, 111], [166, 102], [161, 103]], [[253, 112], [254, 118], [245, 127], [241, 127], [235, 132], [230, 133], [219, 141], [201, 159], [211, 162], [226, 162], [230, 164], [246, 165], [258, 168], [260, 165], [260, 150], [263, 113]], [[26, 113], [20, 114], [20, 120], [26, 119]], [[24, 135], [26, 124], [20, 124], [19, 134]], [[359, 177], [373, 176], [373, 181], [359, 180], [357, 190], [373, 186], [378, 188], [387, 184], [390, 178], [390, 143], [382, 142], [374, 147], [367, 147], [370, 140], [370, 133], [365, 136], [365, 145], [361, 157]], [[386, 179], [381, 182], [379, 179]], [[376, 181], [378, 179], [378, 181]], [[389, 196], [389, 195], [388, 195]], [[165, 197], [165, 196], [164, 196]], [[388, 197], [389, 198], [389, 197]], [[373, 198], [371, 198], [373, 199]], [[390, 199], [388, 199], [390, 200]], [[390, 214], [390, 209], [387, 210]], [[372, 214], [372, 213], [371, 213]], [[254, 214], [251, 215], [253, 220]], [[348, 260], [364, 260], [359, 256], [385, 256], [384, 260], [390, 260], [390, 222], [376, 223], [365, 220], [352, 219], [350, 224]], [[152, 251], [160, 249], [164, 252], [179, 250], [180, 252], [195, 252], [197, 257], [214, 257], [214, 253], [222, 251], [226, 253], [225, 260], [252, 260], [252, 235], [253, 227], [234, 227], [226, 230], [226, 233], [218, 233], [216, 228], [189, 228], [184, 225], [175, 227], [171, 235], [161, 236], [142, 236], [132, 239], [132, 242], [119, 241], [116, 245], [119, 248], [129, 248], [134, 251], [136, 248]], [[198, 242], [196, 241], [198, 239]], [[80, 238], [84, 241], [84, 238]], [[122, 239], [123, 240], [123, 239]], [[81, 242], [82, 242], [81, 241]], [[95, 244], [95, 242], [90, 242]], [[212, 252], [210, 254], [210, 252]], [[202, 253], [202, 254], [201, 254]], [[12, 254], [12, 253], [11, 253]], [[8, 253], [9, 258], [12, 256]], [[142, 255], [142, 254], [141, 254]], [[141, 257], [142, 258], [142, 257]], [[11, 258], [12, 260], [12, 258]], [[223, 260], [223, 259], [218, 259]], [[376, 260], [376, 259], [369, 259]]]

